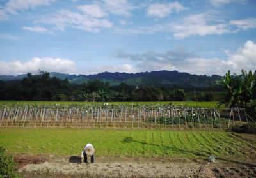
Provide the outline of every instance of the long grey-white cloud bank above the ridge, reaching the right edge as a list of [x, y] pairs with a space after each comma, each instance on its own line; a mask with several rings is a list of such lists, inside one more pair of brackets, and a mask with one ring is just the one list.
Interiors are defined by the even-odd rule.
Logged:
[[132, 68], [136, 71], [177, 70], [198, 75], [224, 75], [228, 70], [240, 73], [241, 69], [247, 71], [256, 69], [256, 44], [250, 40], [246, 41], [243, 47], [238, 48], [233, 54], [228, 54], [227, 59], [214, 57], [207, 59], [196, 56], [182, 47], [164, 53], [116, 52], [113, 56], [131, 61]]

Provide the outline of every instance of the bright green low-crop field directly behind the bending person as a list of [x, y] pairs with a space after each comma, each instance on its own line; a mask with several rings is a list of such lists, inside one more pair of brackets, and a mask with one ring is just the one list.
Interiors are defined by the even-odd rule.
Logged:
[[84, 144], [90, 142], [95, 146], [97, 156], [208, 158], [214, 155], [223, 159], [255, 157], [255, 137], [248, 141], [248, 138], [236, 134], [220, 130], [1, 128], [0, 145], [12, 154], [79, 155]]

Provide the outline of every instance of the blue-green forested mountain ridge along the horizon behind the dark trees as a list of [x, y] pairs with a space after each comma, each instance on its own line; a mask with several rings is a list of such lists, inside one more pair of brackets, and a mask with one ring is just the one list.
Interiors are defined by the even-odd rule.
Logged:
[[[220, 75], [191, 75], [178, 71], [151, 71], [141, 73], [98, 73], [95, 75], [68, 75], [63, 73], [50, 73], [51, 77], [60, 79], [67, 78], [72, 84], [83, 84], [88, 80], [101, 80], [109, 82], [110, 85], [119, 85], [122, 82], [128, 85], [155, 86], [155, 87], [210, 87], [216, 80], [220, 80]], [[21, 80], [26, 75], [0, 75], [0, 80]]]

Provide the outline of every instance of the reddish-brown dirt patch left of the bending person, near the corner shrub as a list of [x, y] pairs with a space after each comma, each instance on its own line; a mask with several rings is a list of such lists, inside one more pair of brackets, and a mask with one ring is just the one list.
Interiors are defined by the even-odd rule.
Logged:
[[35, 155], [28, 155], [28, 154], [20, 154], [14, 157], [14, 162], [16, 163], [16, 168], [22, 168], [25, 165], [29, 164], [40, 164], [44, 163], [48, 159], [45, 156], [35, 156]]

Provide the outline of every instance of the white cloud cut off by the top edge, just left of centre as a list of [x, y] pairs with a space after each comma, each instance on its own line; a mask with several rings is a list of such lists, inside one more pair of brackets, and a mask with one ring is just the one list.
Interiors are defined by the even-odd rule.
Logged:
[[127, 0], [104, 0], [104, 9], [113, 15], [131, 16], [133, 7]]

